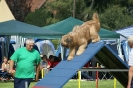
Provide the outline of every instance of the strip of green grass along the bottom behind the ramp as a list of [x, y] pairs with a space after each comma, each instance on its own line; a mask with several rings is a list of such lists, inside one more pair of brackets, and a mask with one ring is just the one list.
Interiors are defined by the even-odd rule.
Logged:
[[[34, 86], [36, 82], [32, 82], [30, 88]], [[116, 88], [124, 88], [118, 81]], [[13, 88], [13, 82], [0, 82], [0, 88]], [[63, 88], [78, 88], [78, 81], [69, 81]], [[96, 88], [96, 81], [81, 81], [81, 88]], [[114, 88], [113, 80], [99, 80], [98, 88]]]

